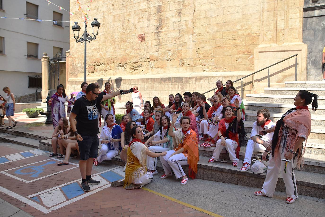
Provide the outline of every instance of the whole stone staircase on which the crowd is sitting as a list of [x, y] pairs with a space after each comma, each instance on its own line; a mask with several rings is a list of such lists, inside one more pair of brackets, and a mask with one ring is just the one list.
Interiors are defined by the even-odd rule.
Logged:
[[[251, 132], [253, 122], [256, 120], [256, 112], [259, 109], [267, 108], [271, 112], [271, 119], [276, 122], [281, 115], [294, 107], [293, 96], [300, 89], [307, 89], [313, 93], [317, 93], [321, 97], [325, 96], [325, 84], [317, 82], [286, 82], [284, 88], [265, 88], [266, 94], [248, 94], [247, 99], [244, 100], [246, 108], [245, 130], [247, 133]], [[285, 94], [285, 92], [288, 94]], [[317, 91], [317, 92], [316, 92]], [[285, 101], [285, 104], [274, 100], [273, 102], [263, 101], [265, 98], [260, 96], [272, 96], [277, 99], [278, 96], [290, 96]], [[269, 99], [271, 99], [269, 97]], [[254, 100], [254, 101], [253, 101]], [[325, 99], [324, 99], [325, 100]], [[301, 195], [312, 197], [325, 198], [325, 105], [319, 105], [318, 110], [312, 114], [312, 130], [306, 144], [304, 167], [302, 170], [295, 170], [298, 191]], [[26, 133], [15, 129], [4, 129], [0, 127], [0, 140], [21, 145], [38, 147], [41, 150], [52, 151], [51, 138], [44, 135], [35, 135]], [[24, 140], [21, 137], [29, 138]], [[240, 159], [243, 160], [245, 156], [246, 147], [241, 147]], [[208, 163], [208, 159], [212, 156], [214, 148], [199, 148], [200, 161], [198, 162], [197, 178], [210, 181], [233, 183], [238, 185], [246, 185], [252, 187], [262, 187], [266, 173], [256, 174], [251, 171], [240, 172], [237, 167], [231, 166], [231, 161], [224, 150], [220, 158], [228, 160], [228, 163], [223, 164], [220, 162]], [[260, 159], [260, 153], [254, 153], [252, 159]], [[120, 156], [114, 157], [111, 163], [124, 165]], [[157, 170], [163, 172], [160, 162], [157, 164]], [[186, 168], [186, 171], [188, 169]], [[159, 179], [156, 175], [154, 179]], [[282, 178], [280, 177], [277, 184], [277, 191], [285, 192], [285, 186]]]

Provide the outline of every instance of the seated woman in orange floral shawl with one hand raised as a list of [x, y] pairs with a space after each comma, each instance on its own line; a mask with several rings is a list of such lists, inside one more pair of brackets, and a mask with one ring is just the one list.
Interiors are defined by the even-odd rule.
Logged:
[[178, 146], [170, 151], [167, 151], [165, 156], [160, 157], [162, 167], [165, 171], [160, 178], [165, 179], [172, 176], [172, 169], [176, 179], [182, 178], [181, 185], [188, 182], [182, 166], [189, 165], [188, 176], [195, 178], [199, 161], [199, 146], [197, 135], [194, 130], [190, 129], [189, 117], [183, 116], [180, 120], [182, 129], [173, 132], [173, 127], [176, 122], [176, 114], [173, 115], [173, 122], [169, 128], [168, 135], [175, 138]]

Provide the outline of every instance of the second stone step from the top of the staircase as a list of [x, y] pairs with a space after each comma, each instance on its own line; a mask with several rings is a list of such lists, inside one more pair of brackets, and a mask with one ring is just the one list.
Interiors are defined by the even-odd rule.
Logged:
[[[302, 88], [264, 88], [265, 94], [287, 94], [287, 95], [296, 95], [299, 90]], [[304, 88], [311, 93], [317, 94], [318, 96], [325, 95], [325, 88]]]

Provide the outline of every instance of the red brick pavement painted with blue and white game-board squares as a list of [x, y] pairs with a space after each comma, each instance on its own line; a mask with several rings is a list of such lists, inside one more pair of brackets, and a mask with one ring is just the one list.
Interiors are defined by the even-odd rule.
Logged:
[[207, 216], [143, 189], [110, 187], [123, 179], [121, 166], [94, 168], [93, 177], [101, 184], [85, 193], [77, 159], [57, 166], [59, 159], [38, 149], [5, 142], [0, 149], [6, 159], [0, 164], [0, 198], [33, 216]]

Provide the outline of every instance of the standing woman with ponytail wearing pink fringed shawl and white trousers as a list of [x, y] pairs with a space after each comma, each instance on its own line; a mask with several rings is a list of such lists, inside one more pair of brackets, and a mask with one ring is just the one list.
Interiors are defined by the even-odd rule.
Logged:
[[301, 168], [304, 153], [302, 143], [307, 142], [311, 129], [311, 116], [307, 105], [311, 103], [313, 97], [312, 107], [316, 111], [318, 96], [306, 90], [300, 90], [294, 98], [296, 107], [282, 115], [275, 127], [260, 132], [261, 135], [270, 132], [274, 134], [263, 189], [256, 191], [254, 195], [273, 197], [279, 170], [281, 170], [287, 194], [285, 202], [291, 204], [298, 198], [294, 168], [297, 164], [298, 168]]

